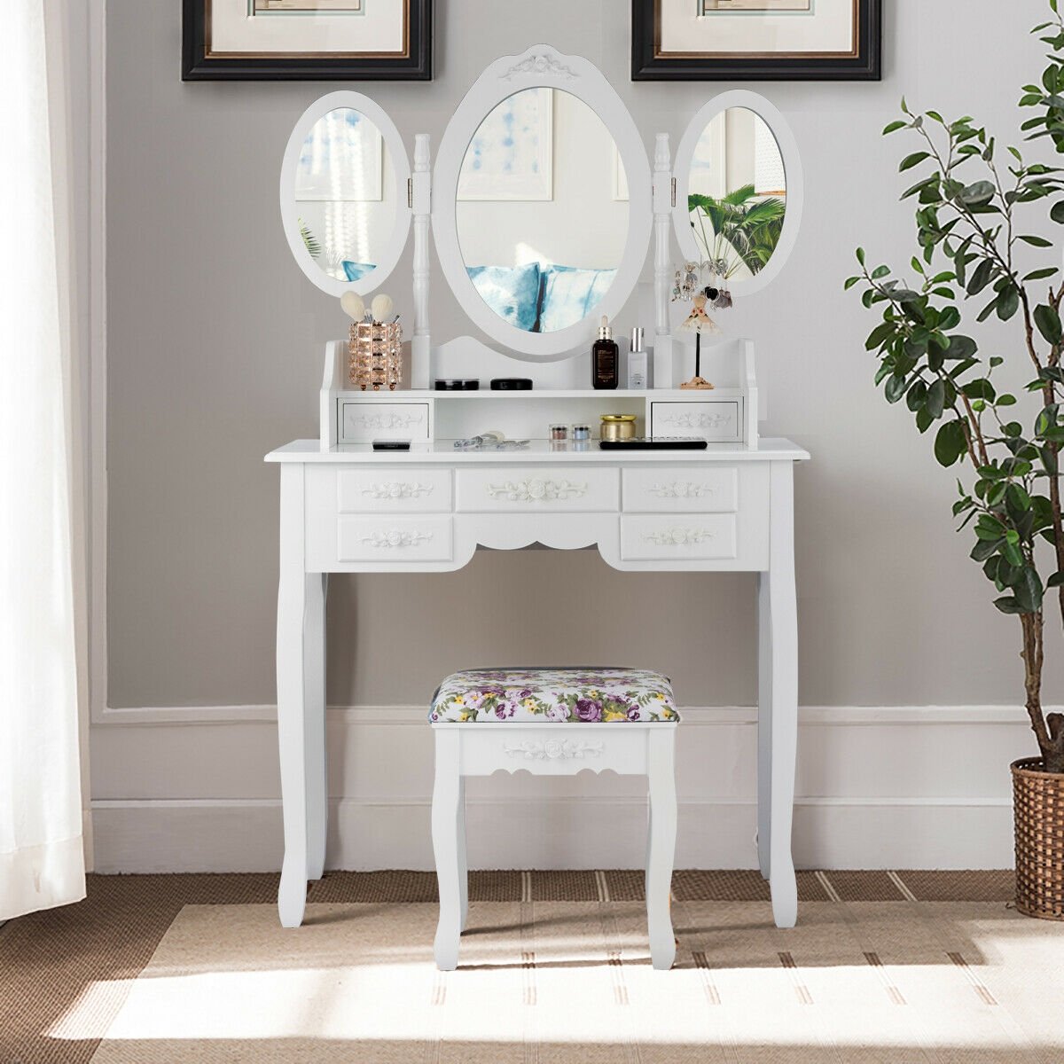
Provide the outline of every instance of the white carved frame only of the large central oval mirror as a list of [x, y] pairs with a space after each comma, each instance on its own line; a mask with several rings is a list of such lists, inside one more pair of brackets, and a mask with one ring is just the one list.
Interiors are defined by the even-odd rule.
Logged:
[[[500, 318], [469, 280], [458, 232], [458, 185], [466, 150], [481, 122], [503, 100], [526, 88], [571, 93], [602, 120], [625, 164], [628, 178], [628, 237], [610, 290], [577, 325], [550, 333], [530, 333]], [[528, 362], [555, 362], [591, 349], [598, 320], [613, 321], [635, 290], [646, 265], [653, 223], [650, 162], [635, 122], [613, 86], [593, 63], [534, 45], [521, 55], [505, 55], [488, 66], [466, 94], [447, 126], [433, 176], [432, 232], [447, 283], [469, 319], [508, 353]]]

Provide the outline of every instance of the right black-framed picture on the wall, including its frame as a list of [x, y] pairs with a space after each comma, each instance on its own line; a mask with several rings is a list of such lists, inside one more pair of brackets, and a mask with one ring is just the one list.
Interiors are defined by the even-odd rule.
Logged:
[[633, 81], [879, 81], [883, 0], [632, 0]]

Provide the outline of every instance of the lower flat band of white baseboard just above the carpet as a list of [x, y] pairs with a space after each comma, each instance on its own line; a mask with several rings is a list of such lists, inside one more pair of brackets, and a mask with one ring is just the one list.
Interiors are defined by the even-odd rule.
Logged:
[[[431, 869], [429, 803], [334, 800], [328, 867]], [[276, 871], [283, 843], [276, 799], [94, 803], [96, 870]], [[635, 799], [480, 799], [467, 808], [473, 868], [642, 867], [646, 805]], [[678, 868], [753, 868], [753, 802], [682, 802]], [[801, 800], [802, 868], [1005, 868], [1012, 810], [985, 801]]]

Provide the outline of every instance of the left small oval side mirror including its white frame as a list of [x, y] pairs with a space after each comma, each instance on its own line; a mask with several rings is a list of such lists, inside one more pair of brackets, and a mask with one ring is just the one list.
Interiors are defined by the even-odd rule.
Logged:
[[288, 247], [322, 292], [379, 287], [410, 229], [410, 164], [392, 120], [359, 93], [330, 93], [296, 123], [281, 168]]

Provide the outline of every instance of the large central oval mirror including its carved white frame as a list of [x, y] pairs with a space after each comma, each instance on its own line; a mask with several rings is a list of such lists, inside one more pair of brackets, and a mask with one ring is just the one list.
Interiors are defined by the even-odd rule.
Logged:
[[631, 295], [650, 237], [638, 132], [586, 60], [537, 46], [493, 64], [440, 145], [433, 233], [469, 317], [508, 353], [589, 346]]

